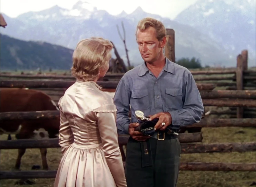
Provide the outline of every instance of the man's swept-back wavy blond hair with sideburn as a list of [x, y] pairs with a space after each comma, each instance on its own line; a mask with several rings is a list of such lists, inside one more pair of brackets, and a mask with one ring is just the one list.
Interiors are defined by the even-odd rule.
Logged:
[[156, 38], [158, 41], [162, 41], [163, 38], [166, 36], [166, 30], [165, 30], [164, 24], [161, 21], [158, 21], [157, 19], [150, 18], [150, 17], [143, 18], [138, 22], [136, 33], [138, 29], [143, 32], [149, 27], [155, 28]]

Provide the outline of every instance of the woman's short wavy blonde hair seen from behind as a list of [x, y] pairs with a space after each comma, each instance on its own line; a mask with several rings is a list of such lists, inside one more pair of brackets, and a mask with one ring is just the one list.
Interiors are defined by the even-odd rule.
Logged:
[[73, 52], [72, 75], [82, 81], [95, 80], [100, 68], [109, 63], [112, 49], [112, 43], [103, 38], [81, 40]]

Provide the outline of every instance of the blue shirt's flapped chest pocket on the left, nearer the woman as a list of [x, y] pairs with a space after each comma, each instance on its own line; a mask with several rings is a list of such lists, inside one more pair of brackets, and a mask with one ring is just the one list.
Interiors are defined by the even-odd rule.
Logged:
[[146, 110], [150, 107], [147, 89], [136, 89], [132, 91], [131, 107], [135, 110]]

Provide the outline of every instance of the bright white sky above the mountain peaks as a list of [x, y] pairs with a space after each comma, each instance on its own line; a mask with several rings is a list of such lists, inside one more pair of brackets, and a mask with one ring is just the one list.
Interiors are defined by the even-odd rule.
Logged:
[[[123, 10], [130, 14], [138, 6], [144, 11], [174, 19], [177, 14], [197, 0], [82, 0], [99, 10], [106, 10], [112, 15], [120, 14]], [[78, 0], [1, 0], [0, 12], [15, 18], [28, 11], [40, 11], [58, 5], [71, 9]]]

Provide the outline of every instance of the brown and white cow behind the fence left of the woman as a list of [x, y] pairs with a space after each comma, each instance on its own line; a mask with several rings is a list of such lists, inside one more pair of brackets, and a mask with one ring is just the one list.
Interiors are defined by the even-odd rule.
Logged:
[[[23, 88], [0, 89], [0, 112], [28, 112], [59, 110], [55, 102], [44, 92]], [[60, 118], [44, 120], [9, 120], [0, 123], [0, 134], [15, 134], [17, 139], [57, 138]], [[18, 150], [15, 169], [20, 168], [21, 158], [26, 149]], [[41, 148], [43, 169], [48, 169], [47, 149]]]

